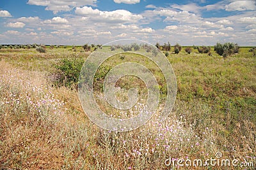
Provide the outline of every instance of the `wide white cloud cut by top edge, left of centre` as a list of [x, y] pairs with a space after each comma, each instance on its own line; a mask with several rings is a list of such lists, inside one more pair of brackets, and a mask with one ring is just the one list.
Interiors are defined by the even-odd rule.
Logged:
[[58, 13], [59, 11], [70, 11], [74, 7], [93, 5], [96, 2], [97, 0], [29, 0], [28, 4], [47, 6], [45, 10], [50, 10], [53, 11], [54, 13]]

